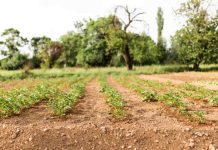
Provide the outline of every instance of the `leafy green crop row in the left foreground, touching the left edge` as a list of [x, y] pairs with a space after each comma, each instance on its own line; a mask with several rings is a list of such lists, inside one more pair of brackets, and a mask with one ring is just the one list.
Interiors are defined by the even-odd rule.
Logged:
[[[24, 108], [47, 99], [52, 89], [46, 85], [39, 85], [33, 91], [27, 89], [13, 89], [0, 93], [0, 115], [11, 116], [19, 114]], [[55, 92], [53, 92], [55, 93]]]

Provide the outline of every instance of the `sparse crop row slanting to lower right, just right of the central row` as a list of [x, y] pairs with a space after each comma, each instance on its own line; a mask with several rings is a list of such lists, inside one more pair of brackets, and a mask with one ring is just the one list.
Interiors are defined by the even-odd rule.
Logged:
[[180, 114], [204, 123], [204, 112], [190, 111], [189, 103], [185, 102], [183, 94], [175, 89], [157, 81], [143, 80], [136, 76], [124, 77], [114, 76], [114, 78], [127, 88], [134, 90], [143, 97], [143, 101], [159, 101], [166, 106], [175, 108]]

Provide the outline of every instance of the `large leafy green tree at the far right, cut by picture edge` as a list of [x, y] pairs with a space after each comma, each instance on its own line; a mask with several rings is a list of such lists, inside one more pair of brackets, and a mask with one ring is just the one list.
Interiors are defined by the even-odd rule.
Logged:
[[[217, 59], [217, 26], [215, 18], [204, 8], [205, 0], [188, 0], [178, 10], [187, 18], [186, 25], [172, 38], [174, 49], [185, 63], [199, 70], [200, 63]], [[215, 21], [216, 22], [216, 21]]]

